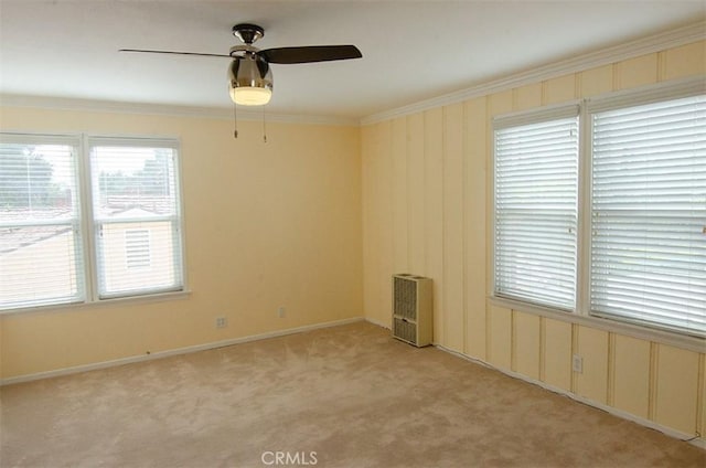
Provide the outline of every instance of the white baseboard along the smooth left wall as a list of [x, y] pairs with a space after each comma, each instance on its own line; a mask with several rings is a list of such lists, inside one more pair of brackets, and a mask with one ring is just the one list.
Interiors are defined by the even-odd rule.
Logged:
[[169, 358], [172, 355], [189, 354], [197, 351], [212, 350], [216, 348], [229, 347], [233, 344], [247, 343], [249, 341], [266, 340], [268, 338], [284, 337], [286, 334], [301, 333], [304, 331], [318, 330], [321, 328], [336, 327], [341, 325], [355, 323], [363, 321], [363, 317], [354, 317], [351, 319], [334, 320], [323, 323], [307, 325], [303, 327], [288, 328], [285, 330], [268, 331], [266, 333], [252, 334], [249, 337], [233, 338], [228, 340], [214, 341], [211, 343], [195, 344], [192, 347], [178, 348], [167, 351], [158, 351], [151, 354], [135, 355], [129, 358], [120, 358], [111, 361], [96, 362], [92, 364], [76, 365], [72, 368], [57, 369], [55, 371], [38, 372], [34, 374], [19, 375], [15, 377], [1, 379], [0, 386], [12, 385], [14, 383], [31, 382], [41, 379], [56, 377], [61, 375], [77, 374], [79, 372], [95, 371], [98, 369], [115, 368], [117, 365], [132, 364], [135, 362], [152, 361], [156, 359]]

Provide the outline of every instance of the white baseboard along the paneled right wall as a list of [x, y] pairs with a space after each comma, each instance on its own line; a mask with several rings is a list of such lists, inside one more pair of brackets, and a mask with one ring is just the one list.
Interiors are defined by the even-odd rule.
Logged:
[[602, 410], [606, 413], [612, 414], [613, 416], [618, 416], [618, 417], [621, 417], [623, 419], [632, 421], [633, 423], [638, 423], [641, 426], [645, 426], [645, 427], [649, 427], [651, 429], [659, 430], [659, 432], [661, 432], [661, 433], [663, 433], [663, 434], [665, 434], [665, 435], [667, 435], [670, 437], [674, 437], [674, 438], [677, 438], [677, 439], [683, 440], [683, 442], [688, 442], [689, 444], [695, 445], [696, 447], [706, 449], [706, 439], [704, 439], [703, 437], [698, 437], [698, 436], [694, 437], [693, 434], [686, 434], [686, 433], [683, 433], [681, 430], [676, 430], [676, 429], [674, 429], [672, 427], [663, 426], [661, 424], [655, 423], [654, 421], [645, 419], [643, 417], [635, 416], [634, 414], [624, 412], [622, 410], [618, 410], [618, 408], [609, 406], [607, 404], [603, 404], [603, 403], [600, 403], [600, 402], [596, 402], [593, 400], [586, 398], [584, 396], [577, 395], [576, 393], [571, 393], [571, 392], [569, 392], [569, 391], [567, 391], [565, 389], [559, 389], [557, 386], [549, 385], [549, 384], [547, 384], [545, 382], [542, 382], [542, 381], [538, 381], [538, 380], [534, 380], [532, 377], [528, 377], [526, 375], [520, 374], [520, 373], [514, 372], [514, 371], [509, 371], [506, 369], [498, 368], [498, 366], [495, 366], [495, 365], [493, 365], [493, 364], [491, 364], [489, 362], [485, 362], [485, 361], [480, 360], [478, 358], [472, 358], [472, 357], [463, 354], [461, 352], [445, 348], [445, 347], [442, 347], [440, 344], [435, 344], [435, 348], [437, 348], [437, 349], [439, 349], [441, 351], [448, 352], [449, 354], [453, 354], [456, 357], [464, 359], [467, 361], [471, 361], [471, 362], [473, 362], [475, 364], [480, 364], [480, 365], [482, 365], [484, 368], [489, 368], [489, 369], [493, 369], [495, 371], [502, 372], [503, 374], [509, 375], [511, 377], [520, 379], [520, 380], [522, 380], [524, 382], [527, 382], [527, 383], [531, 383], [531, 384], [534, 384], [534, 385], [538, 385], [538, 386], [541, 386], [541, 387], [543, 387], [545, 390], [548, 390], [549, 392], [554, 392], [554, 393], [558, 393], [559, 395], [568, 396], [569, 398], [571, 398], [574, 401], [577, 401], [579, 403], [584, 403], [584, 404], [586, 404], [588, 406], [592, 406], [592, 407], [596, 407], [598, 410]]

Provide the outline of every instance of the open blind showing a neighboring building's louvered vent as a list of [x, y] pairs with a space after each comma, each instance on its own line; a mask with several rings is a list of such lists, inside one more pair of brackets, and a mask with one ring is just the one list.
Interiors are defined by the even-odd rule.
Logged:
[[90, 140], [98, 295], [183, 288], [176, 149]]

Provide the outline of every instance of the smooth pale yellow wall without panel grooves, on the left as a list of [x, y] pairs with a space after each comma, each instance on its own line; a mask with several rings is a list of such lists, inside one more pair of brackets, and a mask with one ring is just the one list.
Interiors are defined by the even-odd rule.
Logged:
[[[360, 129], [2, 108], [3, 130], [181, 140], [185, 299], [0, 318], [0, 376], [362, 316]], [[286, 317], [278, 318], [278, 307]], [[228, 327], [215, 328], [225, 316]]]

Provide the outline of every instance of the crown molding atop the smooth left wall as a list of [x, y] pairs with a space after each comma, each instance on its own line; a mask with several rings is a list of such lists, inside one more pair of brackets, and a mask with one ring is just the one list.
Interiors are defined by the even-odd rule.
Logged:
[[[213, 118], [233, 120], [233, 109], [222, 107], [174, 106], [167, 104], [124, 103], [116, 100], [79, 99], [69, 97], [0, 94], [1, 107], [30, 107], [57, 110], [107, 111], [116, 114], [158, 115], [170, 117]], [[359, 119], [333, 116], [265, 113], [268, 123], [355, 126]], [[240, 110], [238, 120], [263, 120], [263, 111]]]

